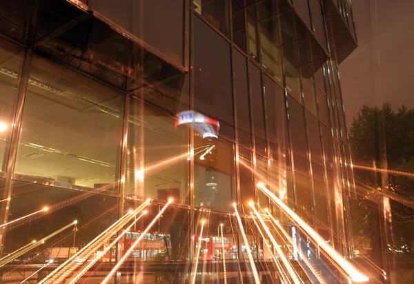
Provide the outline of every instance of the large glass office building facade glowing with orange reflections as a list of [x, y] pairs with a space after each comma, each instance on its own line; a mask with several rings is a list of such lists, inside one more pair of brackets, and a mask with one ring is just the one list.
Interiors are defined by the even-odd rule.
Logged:
[[[49, 207], [0, 228], [3, 254], [75, 219], [76, 232], [33, 259], [48, 258], [48, 247], [83, 247], [150, 198], [141, 232], [172, 197], [147, 238], [158, 245], [137, 250], [140, 261], [192, 265], [203, 219], [199, 272], [217, 281], [223, 267], [208, 261], [221, 257], [229, 279], [251, 278], [236, 203], [268, 283], [270, 254], [248, 218], [255, 201], [323, 267], [319, 249], [257, 188], [264, 183], [351, 257], [338, 65], [356, 46], [348, 0], [1, 1], [1, 221]], [[218, 136], [177, 125], [184, 111], [219, 121]], [[165, 271], [177, 280], [183, 267]]]

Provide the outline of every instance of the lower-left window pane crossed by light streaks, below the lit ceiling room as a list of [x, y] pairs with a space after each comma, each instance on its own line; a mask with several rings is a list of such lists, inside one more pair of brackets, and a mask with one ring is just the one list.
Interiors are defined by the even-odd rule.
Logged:
[[19, 196], [13, 199], [10, 206], [12, 219], [41, 210], [45, 205], [48, 205], [49, 210], [48, 214], [36, 214], [30, 217], [30, 221], [8, 228], [5, 243], [8, 252], [13, 252], [33, 240], [42, 239], [75, 220], [78, 221], [76, 238], [73, 227], [68, 227], [48, 239], [44, 245], [34, 248], [33, 251], [40, 254], [37, 258], [39, 262], [45, 263], [50, 258], [46, 250], [50, 250], [53, 244], [59, 244], [56, 246], [61, 247], [61, 250], [66, 248], [66, 256], [62, 258], [67, 258], [68, 247], [83, 247], [117, 220], [118, 199], [113, 196], [91, 195], [90, 192], [21, 181], [13, 181], [12, 192]]

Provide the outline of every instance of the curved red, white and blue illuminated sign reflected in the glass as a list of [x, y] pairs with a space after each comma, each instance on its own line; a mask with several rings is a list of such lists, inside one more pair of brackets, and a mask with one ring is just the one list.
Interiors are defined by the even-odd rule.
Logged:
[[193, 126], [197, 132], [203, 134], [203, 138], [213, 137], [217, 138], [220, 129], [219, 121], [210, 119], [210, 117], [200, 114], [199, 112], [193, 112], [187, 110], [180, 112], [175, 120], [175, 127], [178, 125], [190, 125]]

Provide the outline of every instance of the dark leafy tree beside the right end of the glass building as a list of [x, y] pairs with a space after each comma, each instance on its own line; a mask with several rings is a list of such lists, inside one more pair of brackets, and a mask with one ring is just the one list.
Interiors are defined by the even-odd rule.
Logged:
[[[364, 105], [354, 119], [349, 132], [351, 153], [355, 165], [388, 168], [404, 172], [414, 172], [414, 110], [404, 105], [393, 111], [390, 103], [382, 108]], [[391, 216], [393, 219], [393, 245], [395, 252], [413, 252], [414, 210], [393, 199], [414, 201], [414, 179], [402, 174], [388, 174], [385, 185], [378, 172], [354, 168], [355, 183], [359, 196], [351, 202], [353, 235], [358, 239], [371, 241], [373, 260], [380, 262], [380, 234], [375, 224], [379, 222], [375, 201], [382, 197], [384, 189], [391, 196]], [[413, 174], [414, 176], [414, 174]], [[385, 188], [384, 188], [385, 186]], [[380, 247], [379, 247], [380, 246]]]

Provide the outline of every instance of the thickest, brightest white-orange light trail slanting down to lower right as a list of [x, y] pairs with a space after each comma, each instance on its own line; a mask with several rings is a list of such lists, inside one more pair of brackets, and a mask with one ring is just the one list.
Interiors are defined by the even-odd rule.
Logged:
[[317, 232], [315, 232], [311, 226], [309, 226], [305, 221], [303, 221], [295, 212], [290, 210], [288, 206], [286, 206], [285, 203], [283, 203], [280, 199], [278, 199], [275, 194], [270, 192], [263, 183], [257, 183], [257, 187], [259, 187], [260, 190], [262, 190], [270, 199], [275, 201], [279, 207], [284, 210], [288, 216], [290, 216], [293, 221], [297, 223], [302, 229], [311, 236], [311, 238], [319, 245], [319, 247], [322, 247], [322, 250], [324, 250], [331, 258], [333, 258], [333, 261], [335, 261], [346, 274], [352, 279], [354, 282], [366, 282], [369, 280], [367, 276], [359, 272], [351, 263], [346, 261], [342, 256], [340, 256], [331, 246], [329, 246], [324, 239], [322, 239]]

